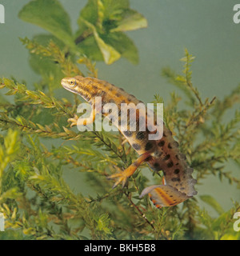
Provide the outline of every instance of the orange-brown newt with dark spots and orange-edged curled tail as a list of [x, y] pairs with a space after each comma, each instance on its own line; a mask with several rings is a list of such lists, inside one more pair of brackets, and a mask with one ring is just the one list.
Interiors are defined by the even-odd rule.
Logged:
[[[118, 127], [118, 130], [138, 153], [139, 157], [126, 170], [110, 175], [109, 178], [116, 179], [113, 187], [118, 186], [119, 183], [124, 186], [127, 178], [134, 174], [138, 166], [146, 162], [152, 170], [162, 170], [163, 179], [161, 185], [149, 186], [142, 190], [140, 198], [149, 194], [154, 205], [161, 208], [163, 206], [175, 206], [197, 194], [197, 191], [194, 190], [196, 180], [192, 177], [193, 168], [187, 165], [185, 154], [182, 154], [178, 149], [178, 142], [174, 140], [172, 133], [164, 122], [162, 137], [157, 140], [150, 140], [148, 137], [149, 134], [154, 134], [156, 131], [148, 129], [142, 131], [139, 129], [139, 120], [142, 117], [139, 111], [136, 111], [136, 123], [138, 125], [135, 131], [129, 129], [122, 131], [120, 129], [121, 104], [134, 103], [137, 105], [140, 103], [134, 95], [128, 94], [122, 88], [98, 78], [85, 78], [82, 76], [63, 78], [61, 84], [66, 90], [79, 94], [86, 102], [90, 103], [92, 111], [90, 118], [86, 118], [86, 121], [84, 121], [84, 125], [93, 122], [97, 113], [107, 116], [107, 114], [102, 113], [104, 104], [114, 102], [118, 106], [117, 113], [114, 113], [114, 118], [117, 121], [113, 122], [113, 124]], [[96, 97], [101, 97], [102, 99], [100, 107], [97, 107], [94, 101]], [[147, 120], [147, 116], [145, 118]], [[68, 121], [72, 122], [71, 126], [74, 126], [77, 125], [77, 119], [76, 115], [75, 118], [70, 118]], [[129, 126], [130, 121], [127, 123], [128, 128]]]

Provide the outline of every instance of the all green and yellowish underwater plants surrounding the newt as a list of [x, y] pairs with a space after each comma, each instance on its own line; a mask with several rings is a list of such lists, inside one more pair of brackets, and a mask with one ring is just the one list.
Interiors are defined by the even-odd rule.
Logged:
[[[158, 210], [149, 198], [139, 199], [149, 186], [141, 171], [146, 165], [127, 187], [112, 190], [106, 176], [129, 166], [137, 158], [134, 150], [122, 143], [121, 134], [78, 132], [67, 123], [82, 99], [58, 98], [60, 80], [77, 74], [98, 77], [97, 61], [110, 65], [123, 57], [138, 63], [138, 50], [124, 32], [146, 27], [146, 18], [131, 10], [128, 0], [89, 0], [75, 33], [57, 0], [31, 1], [19, 18], [49, 34], [21, 38], [30, 66], [42, 76], [34, 88], [0, 78], [0, 212], [5, 216], [0, 239], [239, 239], [233, 229], [238, 202], [225, 212], [209, 194]], [[194, 57], [186, 50], [181, 61], [182, 74], [162, 70], [181, 92], [164, 102], [166, 125], [194, 168], [198, 190], [209, 176], [240, 188], [240, 179], [227, 170], [230, 160], [240, 165], [238, 110], [223, 122], [226, 111], [240, 102], [240, 86], [222, 100], [204, 99], [192, 83]], [[153, 101], [162, 102], [156, 93]], [[79, 193], [71, 189], [66, 178], [71, 170], [84, 177], [91, 196], [86, 186]], [[160, 184], [162, 174], [152, 174]], [[211, 217], [199, 200], [217, 216]]]

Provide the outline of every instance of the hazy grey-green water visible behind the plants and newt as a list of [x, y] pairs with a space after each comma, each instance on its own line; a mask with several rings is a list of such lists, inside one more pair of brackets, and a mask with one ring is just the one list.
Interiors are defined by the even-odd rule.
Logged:
[[[30, 69], [28, 51], [18, 38], [32, 38], [45, 30], [22, 22], [18, 12], [28, 0], [2, 0], [6, 23], [0, 24], [0, 76], [13, 75], [29, 85], [38, 81]], [[72, 27], [77, 30], [79, 11], [86, 0], [61, 0], [71, 16]], [[106, 66], [98, 64], [99, 78], [121, 86], [144, 102], [151, 102], [154, 94], [167, 101], [175, 88], [161, 77], [161, 70], [170, 66], [180, 72], [179, 59], [187, 48], [197, 56], [193, 66], [193, 82], [202, 98], [223, 98], [240, 82], [240, 24], [233, 22], [234, 0], [130, 0], [131, 7], [144, 14], [149, 22], [147, 29], [128, 33], [138, 47], [140, 62], [133, 66], [125, 59]], [[60, 85], [59, 85], [59, 88]], [[59, 97], [67, 97], [62, 88]], [[230, 163], [227, 170], [239, 177], [237, 166]], [[81, 177], [70, 172], [70, 182], [78, 192]], [[230, 198], [240, 200], [239, 190], [227, 182], [207, 179], [197, 187], [198, 194], [211, 194], [227, 210]]]

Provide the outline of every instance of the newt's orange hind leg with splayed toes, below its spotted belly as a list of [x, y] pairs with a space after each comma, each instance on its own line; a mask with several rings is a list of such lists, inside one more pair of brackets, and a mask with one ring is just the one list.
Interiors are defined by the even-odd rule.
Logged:
[[138, 169], [138, 166], [142, 164], [142, 162], [146, 161], [146, 158], [150, 156], [149, 153], [142, 154], [135, 162], [133, 162], [130, 166], [119, 172], [117, 174], [112, 174], [108, 178], [117, 178], [117, 181], [114, 183], [114, 187], [118, 186], [119, 183], [122, 183], [122, 187], [126, 185], [127, 178], [130, 178], [131, 175]]

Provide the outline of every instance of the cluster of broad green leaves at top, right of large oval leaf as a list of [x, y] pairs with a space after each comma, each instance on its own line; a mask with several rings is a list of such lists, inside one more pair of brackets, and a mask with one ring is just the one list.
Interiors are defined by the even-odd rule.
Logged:
[[[89, 0], [78, 18], [78, 48], [88, 57], [104, 60], [106, 64], [121, 56], [137, 64], [138, 50], [134, 42], [120, 32], [146, 27], [147, 22], [129, 6], [128, 0]], [[90, 42], [94, 45], [90, 46]]]

